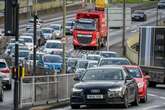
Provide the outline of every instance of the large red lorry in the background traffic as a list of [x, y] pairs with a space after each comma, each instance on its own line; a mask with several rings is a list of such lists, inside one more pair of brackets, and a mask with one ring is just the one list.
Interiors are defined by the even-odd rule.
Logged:
[[74, 49], [106, 45], [108, 28], [103, 11], [79, 12], [73, 30]]

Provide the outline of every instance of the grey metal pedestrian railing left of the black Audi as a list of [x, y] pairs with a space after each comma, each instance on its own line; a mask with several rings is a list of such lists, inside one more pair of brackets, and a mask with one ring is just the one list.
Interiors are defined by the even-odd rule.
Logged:
[[21, 79], [20, 106], [67, 101], [74, 84], [74, 74], [25, 76]]

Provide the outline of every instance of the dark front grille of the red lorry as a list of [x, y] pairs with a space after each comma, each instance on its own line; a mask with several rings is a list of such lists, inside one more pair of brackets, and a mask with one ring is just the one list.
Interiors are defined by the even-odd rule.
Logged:
[[92, 35], [78, 35], [77, 40], [80, 44], [89, 44], [92, 42]]

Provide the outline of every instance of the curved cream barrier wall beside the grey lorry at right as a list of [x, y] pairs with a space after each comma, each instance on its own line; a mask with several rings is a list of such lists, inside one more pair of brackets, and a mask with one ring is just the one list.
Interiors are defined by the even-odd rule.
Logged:
[[135, 33], [126, 41], [126, 56], [134, 64], [138, 64], [138, 51], [136, 50], [139, 41], [138, 35], [138, 33]]

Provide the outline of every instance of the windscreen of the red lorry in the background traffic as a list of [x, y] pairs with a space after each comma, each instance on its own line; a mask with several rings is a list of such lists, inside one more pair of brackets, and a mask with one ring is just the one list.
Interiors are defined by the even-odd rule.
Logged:
[[95, 19], [79, 19], [76, 21], [75, 29], [95, 31], [96, 20]]

